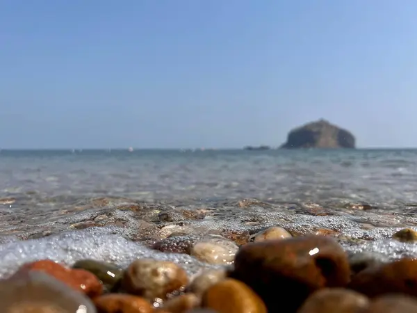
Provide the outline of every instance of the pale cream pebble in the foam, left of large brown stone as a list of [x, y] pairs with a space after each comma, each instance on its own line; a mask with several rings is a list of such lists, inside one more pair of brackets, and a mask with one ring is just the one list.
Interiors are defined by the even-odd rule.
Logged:
[[197, 241], [190, 255], [208, 264], [232, 264], [239, 247], [222, 236], [211, 235]]

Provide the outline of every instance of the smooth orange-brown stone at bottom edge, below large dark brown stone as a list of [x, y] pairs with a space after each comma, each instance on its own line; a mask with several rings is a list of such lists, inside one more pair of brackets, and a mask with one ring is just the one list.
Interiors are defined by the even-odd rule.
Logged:
[[219, 313], [266, 313], [262, 299], [246, 284], [233, 278], [210, 287], [203, 296], [203, 307]]

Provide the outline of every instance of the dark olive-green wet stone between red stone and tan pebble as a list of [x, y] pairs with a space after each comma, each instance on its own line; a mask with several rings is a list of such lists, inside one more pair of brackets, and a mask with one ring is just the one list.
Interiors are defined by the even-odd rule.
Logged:
[[111, 291], [113, 287], [122, 278], [122, 269], [109, 263], [99, 262], [94, 259], [82, 259], [76, 262], [72, 268], [81, 268], [89, 271], [101, 280], [101, 283], [106, 287], [107, 291]]

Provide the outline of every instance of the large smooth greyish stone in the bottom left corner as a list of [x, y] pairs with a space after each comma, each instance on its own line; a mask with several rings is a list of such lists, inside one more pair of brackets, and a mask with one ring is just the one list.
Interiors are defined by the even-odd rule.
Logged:
[[21, 271], [0, 280], [0, 303], [5, 313], [96, 312], [90, 299], [41, 271]]

